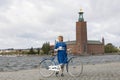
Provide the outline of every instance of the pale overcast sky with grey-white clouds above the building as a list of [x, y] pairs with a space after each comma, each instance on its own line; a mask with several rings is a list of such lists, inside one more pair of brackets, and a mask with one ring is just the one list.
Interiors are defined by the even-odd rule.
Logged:
[[0, 49], [75, 40], [81, 8], [88, 40], [120, 46], [120, 0], [0, 0]]

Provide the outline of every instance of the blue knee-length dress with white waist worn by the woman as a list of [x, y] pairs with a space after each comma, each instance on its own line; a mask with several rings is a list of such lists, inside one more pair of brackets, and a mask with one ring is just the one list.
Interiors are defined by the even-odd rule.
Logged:
[[[59, 49], [61, 48], [61, 49]], [[55, 45], [55, 49], [58, 49], [57, 58], [59, 64], [67, 63], [67, 46], [64, 42], [57, 42]]]

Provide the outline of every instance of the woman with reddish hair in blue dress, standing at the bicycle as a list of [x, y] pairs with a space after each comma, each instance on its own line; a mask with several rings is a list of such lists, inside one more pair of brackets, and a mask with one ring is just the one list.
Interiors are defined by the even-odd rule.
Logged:
[[[58, 36], [58, 42], [55, 44], [55, 52], [57, 52], [57, 58], [59, 64], [61, 64], [61, 71], [63, 75], [64, 70], [64, 64], [67, 63], [67, 46], [65, 42], [63, 42], [63, 36]], [[58, 72], [56, 72], [56, 76], [58, 75]]]

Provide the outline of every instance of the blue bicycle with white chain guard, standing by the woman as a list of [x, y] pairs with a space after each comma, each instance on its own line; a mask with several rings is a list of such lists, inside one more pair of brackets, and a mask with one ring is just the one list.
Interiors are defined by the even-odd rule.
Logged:
[[[54, 72], [57, 71], [61, 71], [61, 65], [66, 67], [66, 72], [72, 76], [72, 77], [77, 77], [80, 76], [80, 74], [83, 71], [83, 64], [82, 62], [79, 60], [78, 56], [74, 56], [74, 55], [67, 55], [68, 59], [67, 59], [67, 63], [65, 64], [58, 64], [56, 61], [56, 55], [55, 56], [51, 56], [51, 57], [47, 57], [47, 58], [43, 58], [40, 61], [40, 74], [43, 77], [50, 77], [51, 75], [54, 74]], [[76, 63], [76, 60], [80, 61]], [[74, 73], [75, 71], [75, 73]], [[43, 73], [42, 73], [43, 72]]]

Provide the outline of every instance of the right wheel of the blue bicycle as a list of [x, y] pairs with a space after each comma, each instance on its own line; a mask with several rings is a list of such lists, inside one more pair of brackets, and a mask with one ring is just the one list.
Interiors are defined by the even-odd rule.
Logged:
[[72, 57], [67, 64], [68, 73], [70, 76], [78, 77], [83, 71], [83, 64], [79, 57]]

